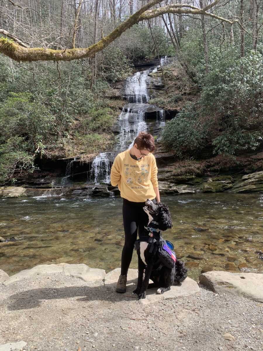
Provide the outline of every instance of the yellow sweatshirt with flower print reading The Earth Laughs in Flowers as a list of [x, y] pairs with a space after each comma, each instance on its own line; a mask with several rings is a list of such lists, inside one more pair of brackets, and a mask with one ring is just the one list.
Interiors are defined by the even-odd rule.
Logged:
[[110, 183], [118, 186], [121, 197], [133, 202], [143, 202], [156, 197], [158, 168], [153, 154], [134, 160], [130, 150], [115, 157], [110, 171]]

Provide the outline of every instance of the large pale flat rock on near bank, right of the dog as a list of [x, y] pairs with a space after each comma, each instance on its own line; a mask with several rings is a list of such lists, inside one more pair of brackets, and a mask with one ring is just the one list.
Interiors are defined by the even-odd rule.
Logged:
[[263, 274], [213, 271], [201, 274], [201, 284], [216, 293], [228, 293], [263, 302]]

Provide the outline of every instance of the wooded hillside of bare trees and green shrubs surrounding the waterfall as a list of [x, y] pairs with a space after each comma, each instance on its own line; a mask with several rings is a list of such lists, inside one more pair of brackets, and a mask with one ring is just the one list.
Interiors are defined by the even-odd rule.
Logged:
[[[178, 162], [205, 154], [231, 167], [237, 155], [262, 150], [263, 2], [154, 1], [138, 14], [151, 2], [0, 0], [1, 184], [33, 172], [39, 158], [109, 150], [120, 113], [120, 101], [106, 98], [114, 82], [131, 75], [134, 62], [163, 55], [176, 61], [164, 70], [166, 95], [151, 102], [168, 109], [186, 96], [162, 135]], [[260, 170], [263, 160], [253, 165]]]

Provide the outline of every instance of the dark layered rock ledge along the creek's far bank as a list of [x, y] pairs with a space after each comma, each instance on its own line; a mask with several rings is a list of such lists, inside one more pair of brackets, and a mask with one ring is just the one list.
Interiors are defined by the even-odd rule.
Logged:
[[[263, 192], [263, 171], [246, 174], [240, 180], [232, 176], [195, 177], [178, 176], [166, 168], [159, 168], [159, 190], [162, 195], [183, 193], [256, 193]], [[109, 184], [84, 184], [65, 188], [23, 188], [15, 186], [0, 187], [0, 197], [40, 197], [64, 196], [67, 198], [101, 198], [120, 196], [117, 187]]]

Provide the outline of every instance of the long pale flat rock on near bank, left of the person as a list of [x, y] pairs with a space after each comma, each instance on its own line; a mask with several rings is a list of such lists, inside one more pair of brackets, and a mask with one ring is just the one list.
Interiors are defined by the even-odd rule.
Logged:
[[3, 284], [9, 285], [17, 282], [23, 278], [35, 276], [37, 274], [52, 274], [52, 273], [64, 273], [66, 276], [72, 276], [85, 280], [85, 282], [92, 282], [95, 280], [102, 280], [105, 277], [106, 272], [104, 269], [90, 268], [85, 264], [43, 264], [35, 266], [31, 269], [23, 270], [19, 273], [6, 279]]

